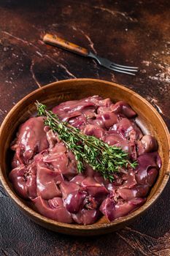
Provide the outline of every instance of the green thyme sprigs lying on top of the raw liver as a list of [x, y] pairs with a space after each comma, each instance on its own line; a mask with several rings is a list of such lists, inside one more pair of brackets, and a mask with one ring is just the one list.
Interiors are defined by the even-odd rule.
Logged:
[[52, 111], [47, 110], [46, 105], [36, 102], [36, 108], [39, 116], [46, 116], [45, 125], [57, 132], [58, 138], [74, 153], [80, 173], [85, 169], [86, 162], [105, 179], [112, 181], [113, 173], [119, 172], [121, 168], [136, 167], [137, 162], [130, 162], [128, 153], [120, 147], [109, 146], [94, 136], [84, 135], [80, 129], [61, 121]]

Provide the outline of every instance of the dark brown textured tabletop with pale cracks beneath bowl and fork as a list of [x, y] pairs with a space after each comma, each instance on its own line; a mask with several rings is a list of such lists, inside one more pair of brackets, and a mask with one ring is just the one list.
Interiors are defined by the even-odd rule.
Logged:
[[[142, 95], [170, 128], [169, 10], [169, 0], [1, 0], [1, 121], [19, 99], [40, 86], [69, 78], [100, 78]], [[94, 61], [45, 45], [45, 32], [141, 70], [135, 78], [114, 74]], [[169, 256], [169, 184], [133, 225], [94, 238], [63, 236], [39, 227], [20, 213], [0, 185], [0, 255]]]

